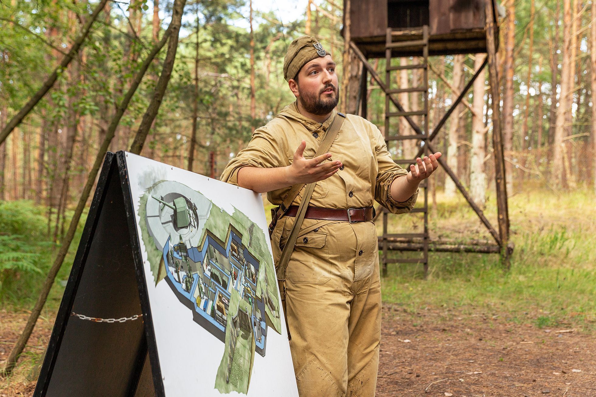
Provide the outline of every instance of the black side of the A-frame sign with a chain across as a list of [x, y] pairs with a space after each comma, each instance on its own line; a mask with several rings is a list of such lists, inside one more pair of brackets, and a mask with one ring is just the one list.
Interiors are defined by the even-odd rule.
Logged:
[[34, 396], [164, 396], [153, 330], [125, 152], [107, 153]]

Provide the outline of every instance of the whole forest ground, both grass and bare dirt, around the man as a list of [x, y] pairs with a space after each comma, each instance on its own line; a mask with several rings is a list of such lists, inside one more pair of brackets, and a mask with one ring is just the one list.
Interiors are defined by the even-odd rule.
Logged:
[[[593, 194], [523, 191], [511, 195], [509, 208], [508, 271], [498, 255], [476, 253], [430, 253], [426, 277], [419, 265], [389, 267], [377, 396], [596, 396]], [[439, 196], [433, 211], [432, 238], [490, 238], [461, 199]], [[496, 225], [494, 200], [485, 214]], [[391, 232], [419, 228], [418, 215], [393, 217]], [[58, 281], [66, 277], [64, 269]], [[0, 397], [33, 395], [62, 291], [60, 283], [52, 289]], [[31, 305], [0, 308], [0, 363]]]

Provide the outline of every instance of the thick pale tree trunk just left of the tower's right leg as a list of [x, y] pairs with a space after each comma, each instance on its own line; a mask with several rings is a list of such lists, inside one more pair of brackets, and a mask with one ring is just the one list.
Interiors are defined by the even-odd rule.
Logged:
[[[478, 70], [484, 61], [483, 54], [476, 54], [474, 60], [474, 69]], [[486, 175], [484, 157], [486, 155], [485, 147], [485, 125], [482, 115], [484, 114], [484, 95], [485, 95], [485, 72], [474, 81], [474, 96], [472, 106], [474, 114], [472, 116], [472, 157], [470, 160], [470, 196], [479, 207], [484, 207], [486, 202]]]

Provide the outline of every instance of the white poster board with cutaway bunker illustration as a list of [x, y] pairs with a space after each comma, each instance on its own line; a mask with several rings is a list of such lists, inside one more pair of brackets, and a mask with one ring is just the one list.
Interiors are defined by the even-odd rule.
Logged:
[[167, 396], [297, 396], [259, 194], [126, 153]]

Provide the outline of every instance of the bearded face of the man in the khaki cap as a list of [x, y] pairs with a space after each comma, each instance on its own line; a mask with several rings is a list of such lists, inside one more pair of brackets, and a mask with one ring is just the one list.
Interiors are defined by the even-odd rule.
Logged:
[[300, 69], [296, 83], [298, 100], [309, 113], [323, 116], [331, 113], [339, 101], [336, 63], [331, 55], [316, 58]]

